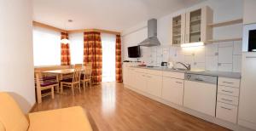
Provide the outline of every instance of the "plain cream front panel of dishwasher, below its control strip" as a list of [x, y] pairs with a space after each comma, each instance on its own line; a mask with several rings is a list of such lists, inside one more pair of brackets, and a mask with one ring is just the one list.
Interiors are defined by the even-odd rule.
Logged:
[[215, 117], [217, 84], [185, 81], [183, 105]]

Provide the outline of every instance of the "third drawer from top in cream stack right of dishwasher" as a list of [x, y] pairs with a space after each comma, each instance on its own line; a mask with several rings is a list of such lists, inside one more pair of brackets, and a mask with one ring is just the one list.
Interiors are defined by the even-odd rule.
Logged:
[[238, 105], [238, 97], [235, 97], [235, 96], [218, 94], [217, 100], [218, 102], [223, 102], [226, 104]]

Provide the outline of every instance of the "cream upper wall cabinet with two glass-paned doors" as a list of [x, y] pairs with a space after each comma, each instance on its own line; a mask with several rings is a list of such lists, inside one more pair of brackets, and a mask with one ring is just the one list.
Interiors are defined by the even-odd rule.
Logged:
[[201, 9], [186, 12], [172, 18], [172, 44], [204, 42], [212, 39], [212, 9], [205, 6]]

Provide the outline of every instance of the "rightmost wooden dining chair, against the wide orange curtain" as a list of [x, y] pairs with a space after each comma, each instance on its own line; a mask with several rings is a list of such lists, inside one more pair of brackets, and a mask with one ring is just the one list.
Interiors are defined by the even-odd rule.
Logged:
[[91, 66], [85, 66], [85, 67], [84, 67], [84, 74], [81, 75], [81, 80], [80, 80], [80, 83], [83, 84], [84, 90], [85, 90], [85, 88], [86, 88], [86, 86], [87, 86], [87, 83], [89, 83], [90, 88], [91, 88], [91, 83], [90, 83], [90, 80], [91, 80], [91, 71], [92, 71]]

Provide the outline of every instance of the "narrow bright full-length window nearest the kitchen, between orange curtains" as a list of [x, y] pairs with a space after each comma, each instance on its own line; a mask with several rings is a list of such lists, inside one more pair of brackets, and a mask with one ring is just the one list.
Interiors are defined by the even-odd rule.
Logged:
[[115, 81], [115, 35], [102, 33], [102, 82]]

